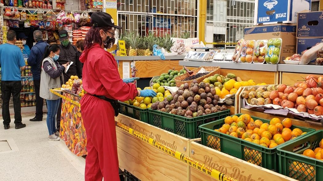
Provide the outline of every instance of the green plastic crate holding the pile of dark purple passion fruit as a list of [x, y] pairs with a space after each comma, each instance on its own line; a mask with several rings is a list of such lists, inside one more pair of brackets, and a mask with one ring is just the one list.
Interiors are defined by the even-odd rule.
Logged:
[[224, 110], [195, 118], [185, 118], [175, 114], [149, 109], [151, 125], [175, 133], [185, 138], [201, 138], [199, 126], [210, 121], [229, 116], [230, 110]]

